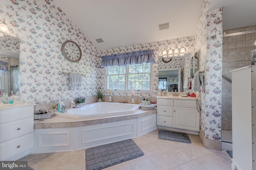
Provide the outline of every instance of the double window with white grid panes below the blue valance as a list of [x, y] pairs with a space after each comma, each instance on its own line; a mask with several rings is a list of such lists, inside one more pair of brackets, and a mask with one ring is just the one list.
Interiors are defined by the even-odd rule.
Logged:
[[150, 91], [151, 64], [106, 67], [107, 89]]

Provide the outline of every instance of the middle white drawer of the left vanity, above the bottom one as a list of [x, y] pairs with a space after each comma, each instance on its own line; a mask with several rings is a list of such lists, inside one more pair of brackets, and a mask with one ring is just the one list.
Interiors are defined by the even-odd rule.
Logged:
[[30, 117], [19, 121], [0, 124], [0, 142], [32, 133], [34, 131], [34, 118]]

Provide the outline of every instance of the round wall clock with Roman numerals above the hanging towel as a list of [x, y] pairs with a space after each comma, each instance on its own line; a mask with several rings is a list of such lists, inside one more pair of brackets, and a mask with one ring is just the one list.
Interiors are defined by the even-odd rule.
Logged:
[[62, 54], [70, 62], [78, 62], [82, 58], [82, 51], [79, 45], [71, 40], [62, 44]]

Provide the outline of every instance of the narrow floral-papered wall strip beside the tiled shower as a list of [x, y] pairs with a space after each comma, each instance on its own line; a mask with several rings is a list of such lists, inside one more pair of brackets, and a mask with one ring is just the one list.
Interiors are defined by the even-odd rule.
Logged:
[[207, 12], [205, 137], [221, 140], [222, 8]]

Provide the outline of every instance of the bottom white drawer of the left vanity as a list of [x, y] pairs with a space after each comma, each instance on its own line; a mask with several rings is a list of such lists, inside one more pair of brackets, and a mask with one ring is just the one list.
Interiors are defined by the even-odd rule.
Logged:
[[26, 134], [0, 144], [0, 160], [8, 158], [33, 148], [33, 134]]

